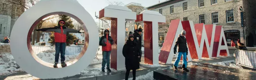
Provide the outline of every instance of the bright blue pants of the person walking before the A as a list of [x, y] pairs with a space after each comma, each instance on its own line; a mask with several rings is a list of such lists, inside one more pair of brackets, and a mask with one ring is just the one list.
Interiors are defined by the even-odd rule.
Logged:
[[178, 67], [180, 58], [181, 58], [181, 54], [183, 55], [182, 64], [184, 64], [185, 68], [187, 68], [187, 52], [178, 52], [178, 57], [175, 60], [174, 66]]

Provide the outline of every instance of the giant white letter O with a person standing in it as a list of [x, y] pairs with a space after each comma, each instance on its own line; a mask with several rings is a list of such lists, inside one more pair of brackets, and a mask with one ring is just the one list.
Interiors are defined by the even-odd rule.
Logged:
[[[28, 36], [31, 35], [33, 30], [31, 26], [35, 26], [34, 23], [37, 23], [35, 21], [42, 20], [47, 17], [46, 15], [51, 14], [67, 14], [78, 20], [78, 22], [84, 23], [85, 25], [82, 24], [82, 26], [85, 35], [87, 35], [85, 40], [90, 37], [89, 43], [84, 44], [85, 47], [79, 56], [68, 62], [72, 65], [65, 68], [51, 68], [50, 66], [53, 64], [44, 62], [33, 54], [30, 42], [28, 42], [30, 41]], [[80, 21], [78, 18], [80, 18]], [[31, 32], [30, 34], [28, 33], [29, 31]], [[90, 33], [89, 36], [88, 33]], [[15, 22], [12, 28], [10, 45], [13, 58], [23, 70], [32, 76], [46, 79], [74, 76], [83, 71], [92, 62], [98, 49], [98, 43], [99, 34], [96, 23], [92, 16], [76, 0], [41, 0], [24, 12]]]

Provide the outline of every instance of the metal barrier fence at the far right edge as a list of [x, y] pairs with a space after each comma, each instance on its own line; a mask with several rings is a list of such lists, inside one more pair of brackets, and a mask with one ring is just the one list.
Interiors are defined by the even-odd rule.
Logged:
[[236, 65], [256, 69], [256, 52], [236, 50]]

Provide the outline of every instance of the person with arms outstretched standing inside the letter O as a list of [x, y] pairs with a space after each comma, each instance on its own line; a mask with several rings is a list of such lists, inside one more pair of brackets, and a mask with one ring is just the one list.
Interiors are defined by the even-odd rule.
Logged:
[[58, 26], [52, 28], [41, 28], [36, 29], [36, 31], [44, 31], [44, 32], [54, 32], [54, 42], [55, 42], [55, 62], [53, 67], [57, 67], [59, 63], [59, 56], [61, 58], [61, 65], [67, 65], [65, 61], [65, 50], [66, 50], [66, 40], [67, 33], [81, 33], [75, 29], [67, 28], [64, 26], [65, 21], [59, 20]]

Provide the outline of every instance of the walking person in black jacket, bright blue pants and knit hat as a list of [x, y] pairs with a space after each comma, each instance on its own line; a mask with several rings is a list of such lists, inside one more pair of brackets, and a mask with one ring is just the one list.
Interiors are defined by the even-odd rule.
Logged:
[[174, 46], [174, 54], [176, 54], [177, 46], [179, 46], [178, 50], [178, 57], [175, 60], [175, 63], [173, 65], [173, 68], [178, 70], [178, 64], [180, 62], [180, 57], [183, 55], [183, 60], [182, 60], [182, 70], [189, 71], [187, 69], [187, 55], [188, 55], [188, 47], [187, 47], [187, 39], [185, 38], [186, 31], [182, 30], [179, 37], [177, 38]]

